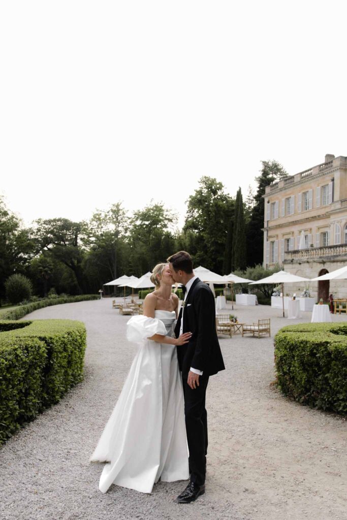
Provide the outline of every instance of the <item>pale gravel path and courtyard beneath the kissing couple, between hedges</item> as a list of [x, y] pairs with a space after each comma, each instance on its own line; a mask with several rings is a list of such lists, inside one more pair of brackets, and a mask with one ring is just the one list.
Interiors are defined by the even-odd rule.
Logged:
[[287, 320], [267, 306], [234, 307], [239, 321], [271, 317], [272, 337], [221, 336], [227, 369], [208, 388], [207, 492], [189, 505], [173, 502], [185, 482], [159, 483], [152, 495], [117, 486], [102, 495], [102, 465], [88, 462], [135, 355], [125, 340], [127, 317], [108, 299], [25, 317], [85, 322], [85, 379], [0, 451], [1, 520], [345, 520], [347, 422], [271, 385], [275, 333], [310, 314]]

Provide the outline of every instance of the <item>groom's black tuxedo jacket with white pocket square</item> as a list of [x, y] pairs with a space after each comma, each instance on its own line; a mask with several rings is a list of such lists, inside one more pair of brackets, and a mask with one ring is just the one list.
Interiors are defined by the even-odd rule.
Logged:
[[214, 296], [208, 285], [194, 280], [187, 294], [184, 310], [179, 311], [175, 336], [179, 336], [182, 312], [183, 332], [191, 332], [189, 343], [177, 345], [178, 366], [183, 375], [190, 367], [213, 375], [224, 370], [223, 356], [216, 333]]

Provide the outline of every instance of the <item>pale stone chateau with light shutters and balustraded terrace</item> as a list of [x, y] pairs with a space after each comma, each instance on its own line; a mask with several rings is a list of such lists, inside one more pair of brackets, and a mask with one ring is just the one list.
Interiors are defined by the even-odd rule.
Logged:
[[[347, 157], [327, 154], [324, 163], [267, 186], [264, 199], [265, 267], [279, 263], [314, 278], [347, 265]], [[317, 299], [347, 298], [347, 280], [308, 283]], [[299, 296], [304, 288], [287, 284], [285, 294]]]

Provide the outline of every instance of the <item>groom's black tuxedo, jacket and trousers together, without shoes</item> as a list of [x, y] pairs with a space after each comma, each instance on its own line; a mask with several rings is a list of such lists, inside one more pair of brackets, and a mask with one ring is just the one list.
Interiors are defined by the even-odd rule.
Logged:
[[[225, 367], [216, 333], [214, 297], [209, 286], [199, 278], [190, 287], [183, 312], [183, 332], [191, 332], [192, 336], [189, 343], [177, 346], [177, 358], [182, 371], [190, 479], [201, 486], [205, 482], [208, 446], [206, 388], [209, 376]], [[182, 308], [175, 327], [176, 337], [181, 319]], [[187, 384], [190, 367], [203, 371], [199, 386], [194, 389]]]

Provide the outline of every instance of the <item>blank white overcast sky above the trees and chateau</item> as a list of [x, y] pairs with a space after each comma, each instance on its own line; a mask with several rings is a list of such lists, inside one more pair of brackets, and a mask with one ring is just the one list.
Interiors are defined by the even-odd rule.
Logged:
[[25, 224], [151, 199], [202, 175], [244, 196], [347, 155], [345, 2], [0, 3], [0, 193]]

